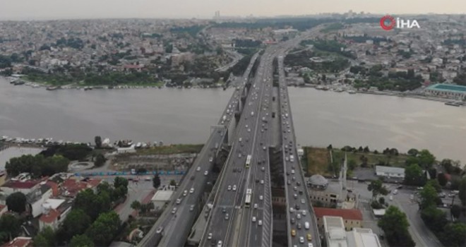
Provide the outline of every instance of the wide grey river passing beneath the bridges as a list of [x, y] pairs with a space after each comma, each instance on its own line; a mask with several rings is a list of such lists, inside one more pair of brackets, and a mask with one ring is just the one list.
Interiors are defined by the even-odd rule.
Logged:
[[[0, 78], [0, 135], [93, 142], [204, 143], [232, 90], [56, 90]], [[298, 143], [411, 147], [466, 162], [466, 107], [381, 95], [289, 88]]]

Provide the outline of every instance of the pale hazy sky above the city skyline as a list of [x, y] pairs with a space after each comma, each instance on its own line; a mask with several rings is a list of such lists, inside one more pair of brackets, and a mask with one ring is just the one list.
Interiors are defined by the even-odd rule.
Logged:
[[323, 12], [465, 13], [466, 0], [0, 0], [1, 20], [211, 18]]

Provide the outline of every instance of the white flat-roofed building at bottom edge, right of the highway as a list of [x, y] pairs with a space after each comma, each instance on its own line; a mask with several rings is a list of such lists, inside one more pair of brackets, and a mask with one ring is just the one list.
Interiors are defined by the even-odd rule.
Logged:
[[355, 227], [345, 231], [342, 217], [324, 216], [324, 236], [328, 247], [381, 247], [371, 229]]

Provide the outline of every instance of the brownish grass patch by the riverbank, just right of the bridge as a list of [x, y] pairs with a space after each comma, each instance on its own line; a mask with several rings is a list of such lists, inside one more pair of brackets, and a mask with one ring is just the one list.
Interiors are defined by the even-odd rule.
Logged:
[[330, 163], [328, 150], [322, 147], [304, 147], [306, 155], [307, 174], [321, 174], [322, 176], [332, 176], [328, 169]]

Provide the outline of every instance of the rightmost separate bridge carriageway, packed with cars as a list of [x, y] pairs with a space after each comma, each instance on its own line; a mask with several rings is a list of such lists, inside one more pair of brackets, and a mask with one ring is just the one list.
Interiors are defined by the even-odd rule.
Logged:
[[278, 56], [278, 78], [280, 85], [280, 120], [282, 123], [282, 152], [285, 169], [285, 196], [287, 199], [287, 229], [289, 246], [320, 245], [311, 201], [304, 181], [304, 174], [298, 159], [296, 136], [289, 105], [283, 56]]

